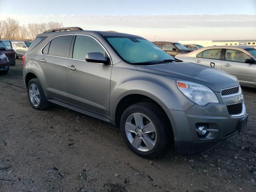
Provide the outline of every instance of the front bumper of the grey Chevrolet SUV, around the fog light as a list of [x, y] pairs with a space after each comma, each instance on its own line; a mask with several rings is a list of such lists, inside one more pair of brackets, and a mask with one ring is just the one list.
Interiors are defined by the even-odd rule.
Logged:
[[[194, 105], [186, 111], [165, 109], [174, 133], [175, 151], [182, 154], [204, 152], [222, 140], [236, 134], [246, 124], [248, 114], [244, 106], [243, 114], [232, 117], [224, 103], [210, 103], [206, 106]], [[243, 123], [241, 123], [243, 122]], [[198, 124], [208, 129], [218, 130], [199, 136]]]

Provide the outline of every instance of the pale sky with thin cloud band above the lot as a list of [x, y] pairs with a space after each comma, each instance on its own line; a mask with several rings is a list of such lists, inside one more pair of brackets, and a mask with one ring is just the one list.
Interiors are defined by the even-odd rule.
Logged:
[[148, 40], [256, 39], [256, 0], [0, 0], [0, 20], [62, 22]]

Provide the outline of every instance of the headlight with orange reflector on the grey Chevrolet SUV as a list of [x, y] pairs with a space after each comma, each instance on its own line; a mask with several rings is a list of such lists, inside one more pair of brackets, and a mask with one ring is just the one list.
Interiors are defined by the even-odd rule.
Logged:
[[218, 103], [219, 100], [212, 90], [204, 85], [188, 81], [177, 81], [179, 90], [190, 100], [198, 105]]

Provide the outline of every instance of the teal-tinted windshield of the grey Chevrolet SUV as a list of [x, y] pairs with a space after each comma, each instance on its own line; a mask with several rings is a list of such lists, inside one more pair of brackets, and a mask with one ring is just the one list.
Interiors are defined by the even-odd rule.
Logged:
[[106, 40], [118, 55], [130, 64], [174, 60], [158, 46], [143, 38], [111, 36], [106, 37]]

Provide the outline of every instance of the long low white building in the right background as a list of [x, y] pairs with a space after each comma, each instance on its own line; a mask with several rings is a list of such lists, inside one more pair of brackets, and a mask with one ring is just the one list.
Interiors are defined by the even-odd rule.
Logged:
[[192, 41], [179, 41], [181, 44], [198, 44], [204, 47], [218, 46], [218, 45], [242, 45], [256, 47], [256, 40], [192, 40]]

